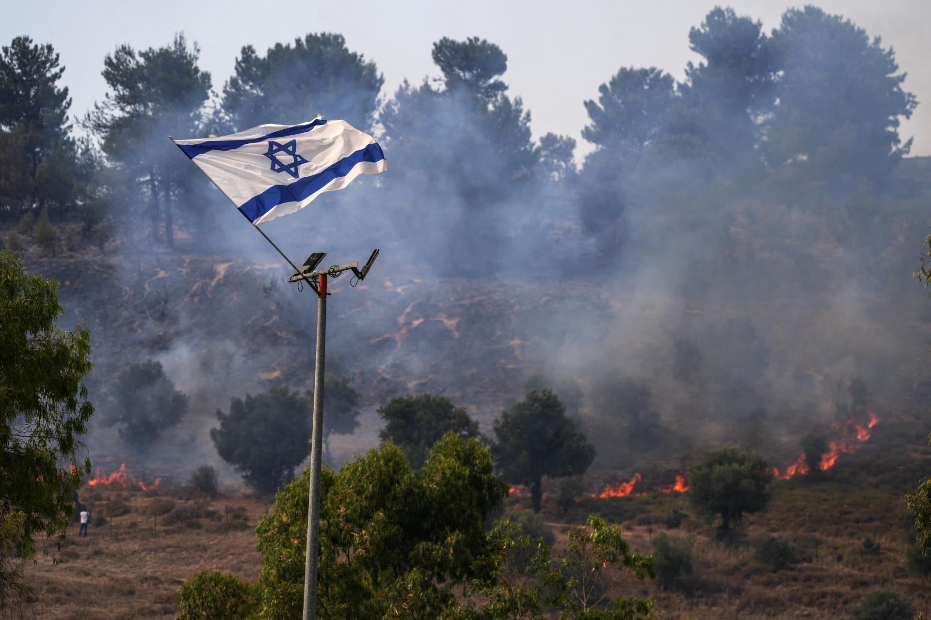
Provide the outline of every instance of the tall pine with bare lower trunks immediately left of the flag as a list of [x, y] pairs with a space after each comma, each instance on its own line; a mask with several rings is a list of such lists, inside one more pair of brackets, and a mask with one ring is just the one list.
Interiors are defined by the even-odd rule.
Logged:
[[182, 189], [200, 181], [196, 170], [171, 146], [169, 135], [196, 136], [202, 129], [210, 74], [197, 66], [200, 50], [183, 34], [169, 46], [137, 52], [116, 47], [103, 61], [110, 87], [85, 124], [99, 137], [108, 163], [122, 180], [121, 203], [137, 201], [148, 214], [151, 234], [164, 216], [165, 243], [174, 246], [172, 204]]

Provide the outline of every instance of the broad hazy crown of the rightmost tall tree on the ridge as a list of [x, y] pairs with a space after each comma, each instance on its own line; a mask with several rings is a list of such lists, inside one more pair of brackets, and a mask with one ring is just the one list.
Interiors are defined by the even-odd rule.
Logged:
[[877, 178], [908, 154], [898, 137], [915, 96], [902, 89], [895, 52], [840, 15], [789, 8], [773, 31], [779, 104], [762, 151], [770, 165], [814, 178]]

